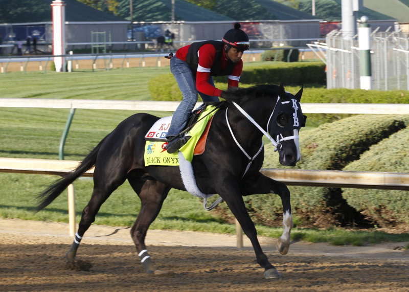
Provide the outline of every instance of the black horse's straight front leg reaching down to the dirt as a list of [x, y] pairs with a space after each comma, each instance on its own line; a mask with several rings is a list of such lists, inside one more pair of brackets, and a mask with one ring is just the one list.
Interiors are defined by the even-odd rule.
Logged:
[[219, 191], [218, 193], [229, 206], [233, 215], [239, 221], [244, 234], [252, 242], [254, 252], [256, 253], [257, 263], [264, 268], [265, 278], [280, 278], [280, 274], [277, 272], [277, 269], [268, 261], [267, 256], [261, 249], [260, 243], [257, 239], [256, 227], [254, 226], [254, 223], [245, 208], [239, 186], [234, 183], [229, 184], [227, 181], [225, 181], [222, 188], [223, 190]]

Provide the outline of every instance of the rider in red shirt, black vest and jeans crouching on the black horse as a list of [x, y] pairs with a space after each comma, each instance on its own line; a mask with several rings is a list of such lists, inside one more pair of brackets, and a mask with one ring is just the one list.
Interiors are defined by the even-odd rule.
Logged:
[[176, 152], [187, 140], [179, 136], [200, 95], [203, 102], [218, 102], [222, 91], [214, 86], [212, 76], [229, 76], [228, 87], [238, 87], [243, 61], [243, 52], [250, 43], [247, 34], [236, 23], [221, 41], [194, 42], [180, 48], [175, 56], [169, 54], [170, 71], [183, 95], [176, 108], [166, 138], [168, 153]]

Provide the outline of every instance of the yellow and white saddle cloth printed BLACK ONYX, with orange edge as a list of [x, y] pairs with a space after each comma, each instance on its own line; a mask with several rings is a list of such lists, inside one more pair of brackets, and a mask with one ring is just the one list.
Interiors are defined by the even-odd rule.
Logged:
[[[189, 162], [192, 162], [193, 155], [201, 154], [205, 150], [204, 144], [206, 144], [210, 122], [213, 118], [213, 115], [217, 111], [217, 109], [213, 110], [214, 108], [214, 105], [208, 105], [205, 110], [200, 113], [197, 123], [186, 133], [186, 136], [191, 136], [192, 138], [190, 138], [188, 142], [179, 149], [179, 151], [182, 152], [185, 159]], [[145, 140], [147, 141], [145, 143], [144, 152], [145, 166], [179, 165], [178, 151], [174, 153], [168, 153], [166, 151], [166, 146], [168, 145], [166, 135], [171, 121], [172, 117], [164, 117], [156, 121], [156, 123], [154, 123], [146, 133]], [[203, 146], [198, 147], [198, 150], [195, 153], [195, 148], [199, 141], [199, 144]]]

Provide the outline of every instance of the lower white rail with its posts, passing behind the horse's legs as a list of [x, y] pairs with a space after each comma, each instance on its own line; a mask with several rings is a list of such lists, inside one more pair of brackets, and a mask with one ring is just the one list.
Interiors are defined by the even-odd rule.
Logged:
[[[64, 175], [73, 171], [79, 161], [26, 158], [0, 158], [0, 172]], [[261, 172], [276, 181], [295, 186], [330, 186], [343, 188], [370, 188], [409, 190], [409, 173], [355, 172], [336, 170], [262, 169]], [[93, 176], [90, 169], [83, 176]], [[68, 187], [70, 236], [75, 234], [75, 190]], [[241, 247], [241, 228], [236, 221], [237, 246]]]

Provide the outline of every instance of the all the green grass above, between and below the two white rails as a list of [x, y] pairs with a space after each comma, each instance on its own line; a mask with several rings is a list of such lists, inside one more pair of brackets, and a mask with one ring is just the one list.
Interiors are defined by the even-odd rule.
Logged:
[[[47, 74], [16, 72], [0, 75], [2, 98], [79, 98], [149, 100], [147, 82], [169, 68], [144, 68], [111, 71], [82, 71]], [[299, 88], [290, 88], [291, 91]], [[77, 109], [65, 144], [66, 160], [81, 160], [90, 149], [126, 117], [128, 110]], [[153, 112], [164, 116], [169, 113]], [[0, 156], [10, 158], [58, 159], [58, 148], [68, 109], [0, 107]], [[277, 160], [277, 153], [265, 143], [268, 160]], [[50, 206], [35, 213], [35, 194], [57, 176], [0, 173], [0, 217], [25, 220], [67, 222], [67, 193], [64, 191]], [[78, 179], [76, 220], [92, 193], [91, 179]], [[221, 203], [224, 204], [224, 203]], [[140, 200], [129, 184], [116, 190], [102, 205], [95, 224], [131, 226], [140, 210]], [[206, 231], [234, 234], [234, 224], [223, 223], [214, 213], [205, 211], [201, 201], [192, 195], [171, 190], [152, 229]], [[294, 214], [296, 215], [296, 214]], [[278, 237], [281, 228], [257, 226], [258, 234]], [[409, 234], [386, 234], [379, 231], [346, 231], [339, 229], [293, 229], [293, 240], [330, 242], [332, 244], [409, 241]]]

